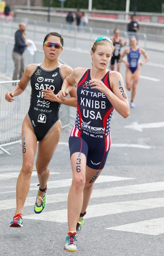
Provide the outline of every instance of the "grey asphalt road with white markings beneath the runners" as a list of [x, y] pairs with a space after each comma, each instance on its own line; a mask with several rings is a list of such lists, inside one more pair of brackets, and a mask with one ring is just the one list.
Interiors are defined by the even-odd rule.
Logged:
[[[140, 68], [136, 108], [131, 109], [127, 119], [114, 111], [112, 146], [105, 169], [94, 185], [85, 225], [77, 241], [79, 256], [164, 255], [164, 54], [147, 53], [150, 62]], [[73, 68], [90, 67], [87, 52], [64, 50], [61, 58]], [[121, 73], [124, 78], [123, 64]], [[75, 111], [72, 108], [71, 114], [75, 115]], [[11, 156], [0, 151], [0, 255], [65, 255], [62, 248], [67, 233], [66, 200], [72, 177], [69, 133], [69, 128], [62, 131], [51, 160], [49, 203], [40, 215], [34, 214], [34, 170], [20, 229], [11, 229], [9, 222], [15, 210], [21, 146], [6, 146]]]

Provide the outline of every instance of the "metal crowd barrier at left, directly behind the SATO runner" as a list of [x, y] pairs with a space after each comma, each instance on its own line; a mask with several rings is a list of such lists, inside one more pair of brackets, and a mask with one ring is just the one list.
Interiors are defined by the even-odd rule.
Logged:
[[[25, 91], [15, 97], [15, 101], [5, 100], [6, 92], [11, 92], [13, 87], [20, 80], [0, 82], [0, 149], [6, 151], [3, 146], [11, 145], [21, 141], [22, 123], [30, 105], [31, 85], [28, 84]], [[66, 105], [61, 105], [59, 117], [62, 128], [69, 125], [70, 109]]]

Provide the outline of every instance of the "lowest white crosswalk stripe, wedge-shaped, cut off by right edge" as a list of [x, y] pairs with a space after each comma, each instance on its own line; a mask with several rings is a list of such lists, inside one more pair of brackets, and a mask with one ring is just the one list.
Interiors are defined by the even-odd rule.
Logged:
[[117, 227], [108, 227], [107, 230], [119, 230], [158, 236], [164, 233], [164, 218], [155, 218], [147, 221], [139, 221]]

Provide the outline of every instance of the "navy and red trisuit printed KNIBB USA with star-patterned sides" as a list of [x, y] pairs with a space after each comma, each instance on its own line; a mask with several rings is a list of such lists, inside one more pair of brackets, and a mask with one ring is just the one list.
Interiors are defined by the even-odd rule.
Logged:
[[[75, 125], [69, 137], [70, 155], [75, 152], [85, 154], [87, 166], [103, 169], [111, 145], [110, 120], [113, 106], [105, 94], [91, 89], [90, 69], [77, 85], [77, 113]], [[111, 90], [109, 71], [102, 82]]]

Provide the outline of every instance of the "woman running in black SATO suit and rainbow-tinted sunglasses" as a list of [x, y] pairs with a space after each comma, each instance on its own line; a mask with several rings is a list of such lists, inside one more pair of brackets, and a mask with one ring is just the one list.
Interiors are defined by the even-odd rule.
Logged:
[[8, 102], [24, 92], [31, 81], [31, 100], [28, 114], [22, 126], [23, 166], [17, 179], [17, 209], [10, 222], [10, 227], [22, 227], [22, 210], [30, 188], [34, 156], [37, 151], [36, 169], [40, 187], [34, 206], [35, 213], [41, 213], [46, 204], [48, 164], [59, 143], [62, 124], [59, 119], [61, 103], [76, 107], [76, 88], [70, 92], [65, 102], [55, 94], [61, 90], [64, 79], [72, 73], [72, 68], [59, 62], [58, 57], [63, 49], [63, 38], [56, 32], [45, 36], [43, 47], [45, 59], [41, 64], [30, 64], [26, 67], [22, 79], [10, 93], [6, 93]]

